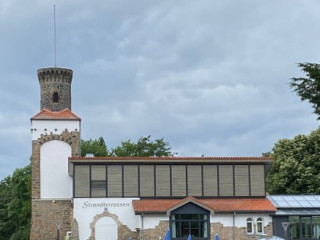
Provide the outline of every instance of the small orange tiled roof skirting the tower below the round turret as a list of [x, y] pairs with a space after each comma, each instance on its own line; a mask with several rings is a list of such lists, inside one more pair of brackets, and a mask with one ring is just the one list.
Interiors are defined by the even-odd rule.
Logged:
[[38, 114], [34, 115], [31, 120], [81, 120], [76, 114], [68, 108], [59, 112], [53, 112], [48, 109], [42, 109]]

